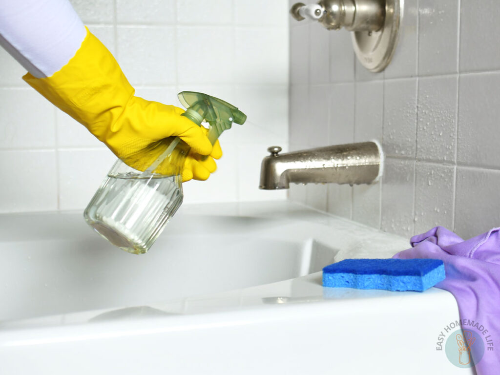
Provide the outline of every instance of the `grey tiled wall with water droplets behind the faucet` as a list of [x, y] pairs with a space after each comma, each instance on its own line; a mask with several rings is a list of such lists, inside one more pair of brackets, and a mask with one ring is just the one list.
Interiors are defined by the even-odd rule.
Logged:
[[405, 0], [380, 73], [347, 31], [290, 21], [290, 149], [377, 139], [386, 157], [379, 183], [292, 185], [290, 199], [404, 236], [500, 226], [500, 2], [477, 4]]

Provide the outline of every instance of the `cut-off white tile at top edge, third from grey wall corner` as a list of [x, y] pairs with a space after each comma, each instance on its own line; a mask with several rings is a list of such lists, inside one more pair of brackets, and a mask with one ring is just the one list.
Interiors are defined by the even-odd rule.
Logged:
[[116, 0], [118, 23], [175, 22], [175, 0]]

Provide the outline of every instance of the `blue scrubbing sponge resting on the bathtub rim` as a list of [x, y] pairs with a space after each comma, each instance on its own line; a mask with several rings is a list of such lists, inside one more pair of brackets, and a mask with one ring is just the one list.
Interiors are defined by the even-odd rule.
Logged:
[[323, 268], [323, 286], [423, 291], [444, 280], [439, 259], [344, 259]]

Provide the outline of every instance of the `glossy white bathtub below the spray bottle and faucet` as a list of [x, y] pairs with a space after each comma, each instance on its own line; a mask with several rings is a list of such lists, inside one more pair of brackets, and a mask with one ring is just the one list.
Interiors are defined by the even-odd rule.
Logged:
[[408, 240], [287, 201], [183, 205], [148, 253], [81, 212], [0, 215], [1, 374], [472, 373], [451, 294], [323, 288]]

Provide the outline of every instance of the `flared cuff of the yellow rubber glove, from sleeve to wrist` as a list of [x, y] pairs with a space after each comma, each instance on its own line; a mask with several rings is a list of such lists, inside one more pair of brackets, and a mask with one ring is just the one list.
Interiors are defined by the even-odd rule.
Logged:
[[60, 70], [45, 78], [27, 73], [22, 79], [106, 143], [109, 132], [118, 130], [113, 125], [134, 89], [111, 52], [86, 31], [80, 48]]

